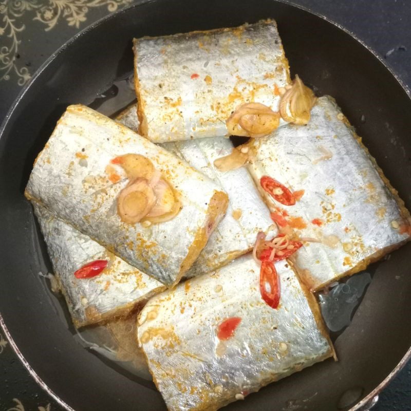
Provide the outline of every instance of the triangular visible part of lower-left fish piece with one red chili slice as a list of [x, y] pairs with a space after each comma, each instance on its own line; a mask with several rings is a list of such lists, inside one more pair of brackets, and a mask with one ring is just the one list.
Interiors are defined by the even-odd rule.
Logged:
[[[76, 327], [127, 315], [165, 286], [107, 251], [40, 204], [33, 202], [55, 276]], [[107, 260], [96, 277], [76, 278], [74, 272], [95, 260]]]

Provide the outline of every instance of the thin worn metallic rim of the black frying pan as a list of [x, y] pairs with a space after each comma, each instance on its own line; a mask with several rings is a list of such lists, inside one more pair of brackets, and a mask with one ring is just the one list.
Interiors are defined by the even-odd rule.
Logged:
[[[383, 57], [377, 53], [371, 46], [367, 45], [363, 40], [359, 39], [356, 34], [354, 34], [352, 31], [349, 29], [345, 28], [341, 24], [331, 20], [329, 17], [325, 16], [324, 14], [314, 12], [310, 10], [308, 7], [302, 6], [302, 5], [297, 5], [292, 1], [289, 0], [271, 0], [273, 3], [280, 3], [280, 4], [285, 4], [287, 6], [295, 7], [297, 9], [303, 10], [309, 14], [312, 14], [316, 17], [321, 18], [322, 20], [325, 20], [326, 22], [332, 24], [333, 26], [337, 27], [338, 29], [344, 31], [346, 34], [348, 34], [351, 38], [356, 40], [358, 43], [360, 43], [368, 52], [370, 52], [373, 57], [375, 57], [379, 63], [381, 63], [385, 69], [388, 70], [388, 72], [395, 78], [395, 80], [399, 83], [400, 87], [405, 91], [405, 94], [407, 95], [408, 99], [411, 100], [411, 90], [408, 88], [408, 86], [401, 80], [396, 72], [394, 72], [394, 69], [391, 68], [387, 62], [383, 59]], [[117, 18], [119, 14], [126, 13], [128, 10], [132, 8], [137, 8], [142, 5], [150, 4], [150, 3], [157, 3], [158, 0], [138, 0], [137, 3], [134, 3], [132, 5], [126, 6], [114, 13], [108, 14], [96, 22], [92, 23], [91, 25], [85, 27], [83, 30], [79, 31], [77, 34], [72, 36], [71, 39], [69, 39], [67, 42], [65, 42], [61, 47], [59, 47], [56, 51], [54, 51], [49, 58], [35, 71], [33, 74], [33, 77], [31, 80], [23, 87], [23, 89], [19, 92], [15, 100], [13, 101], [11, 107], [7, 111], [6, 116], [3, 119], [2, 124], [0, 125], [0, 139], [3, 137], [5, 129], [8, 126], [9, 120], [12, 118], [15, 109], [17, 106], [20, 104], [21, 100], [24, 98], [26, 95], [27, 91], [30, 89], [32, 84], [40, 77], [42, 72], [52, 63], [52, 61], [58, 57], [67, 47], [71, 46], [74, 42], [76, 42], [79, 38], [81, 38], [83, 35], [85, 35], [88, 31], [91, 31], [95, 29], [97, 26], [105, 23], [106, 21], [111, 20], [112, 18]], [[39, 384], [39, 386], [46, 391], [48, 395], [50, 395], [59, 405], [61, 405], [64, 409], [67, 411], [76, 411], [74, 408], [72, 408], [70, 405], [68, 405], [65, 401], [63, 401], [57, 394], [54, 393], [54, 391], [43, 381], [43, 379], [35, 372], [35, 370], [31, 367], [31, 365], [28, 363], [28, 361], [25, 359], [23, 356], [22, 352], [20, 349], [17, 347], [16, 343], [14, 342], [11, 333], [9, 332], [6, 323], [4, 321], [3, 315], [0, 311], [0, 327], [3, 329], [5, 336], [15, 352], [17, 358], [21, 361], [21, 363], [24, 365], [24, 367], [27, 369], [29, 372], [30, 376], [35, 380], [36, 383]], [[365, 396], [361, 401], [359, 401], [356, 405], [352, 406], [348, 411], [361, 411], [361, 409], [367, 404], [372, 401], [373, 398], [378, 396], [378, 394], [388, 385], [388, 383], [393, 380], [393, 378], [397, 375], [397, 373], [405, 366], [405, 364], [411, 360], [411, 346], [408, 348], [402, 359], [399, 361], [399, 363], [395, 366], [395, 368], [388, 374], [388, 376], [375, 388], [373, 389], [367, 396]]]

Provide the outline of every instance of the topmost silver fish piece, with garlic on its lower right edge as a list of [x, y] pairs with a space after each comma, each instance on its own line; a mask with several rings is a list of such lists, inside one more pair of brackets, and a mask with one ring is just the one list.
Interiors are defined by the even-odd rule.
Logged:
[[290, 83], [273, 20], [134, 40], [139, 133], [153, 142], [218, 137], [239, 105], [278, 110]]

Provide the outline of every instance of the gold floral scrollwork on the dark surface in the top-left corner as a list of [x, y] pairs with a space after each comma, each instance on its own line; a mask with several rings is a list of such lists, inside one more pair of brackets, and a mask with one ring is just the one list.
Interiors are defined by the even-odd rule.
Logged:
[[33, 21], [45, 25], [45, 31], [53, 29], [60, 19], [69, 26], [80, 28], [87, 20], [91, 8], [106, 6], [109, 12], [133, 0], [0, 0], [0, 81], [16, 77], [23, 86], [31, 79], [27, 67], [19, 67], [16, 59], [22, 43], [21, 34], [26, 26], [19, 22], [26, 13], [33, 13]]

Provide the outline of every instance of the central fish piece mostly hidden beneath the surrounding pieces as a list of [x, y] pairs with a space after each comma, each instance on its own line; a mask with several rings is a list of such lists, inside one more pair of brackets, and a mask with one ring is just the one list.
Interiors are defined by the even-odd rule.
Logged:
[[[137, 129], [135, 105], [124, 110], [123, 116], [117, 117], [116, 121], [123, 122], [124, 119], [127, 119], [128, 127]], [[277, 235], [278, 230], [269, 210], [245, 167], [220, 172], [214, 166], [214, 160], [233, 150], [230, 139], [211, 137], [164, 143], [161, 146], [212, 179], [229, 196], [226, 216], [210, 235], [206, 247], [185, 274], [186, 278], [213, 271], [251, 251], [259, 231], [264, 232], [267, 239]]]

